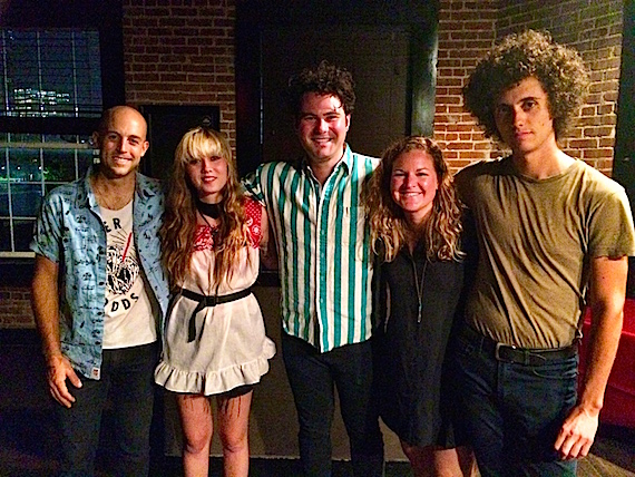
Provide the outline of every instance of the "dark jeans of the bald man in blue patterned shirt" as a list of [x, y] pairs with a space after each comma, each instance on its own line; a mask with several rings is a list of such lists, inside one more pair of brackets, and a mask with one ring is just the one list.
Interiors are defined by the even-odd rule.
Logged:
[[101, 379], [81, 377], [82, 387], [68, 383], [76, 401], [57, 406], [61, 434], [62, 476], [92, 476], [99, 445], [101, 413], [113, 402], [115, 455], [113, 475], [148, 475], [157, 343], [104, 350]]

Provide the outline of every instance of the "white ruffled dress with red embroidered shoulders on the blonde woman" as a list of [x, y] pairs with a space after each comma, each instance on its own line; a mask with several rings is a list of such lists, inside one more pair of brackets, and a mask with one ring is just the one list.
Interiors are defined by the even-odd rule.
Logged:
[[[209, 295], [227, 295], [252, 286], [258, 274], [258, 243], [262, 208], [245, 201], [252, 244], [240, 253], [238, 265], [228, 281], [211, 283], [214, 274], [214, 230], [198, 225], [192, 275], [183, 288]], [[250, 260], [247, 260], [247, 256]], [[196, 334], [188, 342], [188, 324], [198, 302], [177, 295], [166, 320], [163, 353], [155, 370], [155, 381], [175, 392], [219, 395], [234, 388], [260, 382], [268, 371], [275, 344], [265, 334], [261, 308], [253, 294], [204, 308], [196, 314]]]

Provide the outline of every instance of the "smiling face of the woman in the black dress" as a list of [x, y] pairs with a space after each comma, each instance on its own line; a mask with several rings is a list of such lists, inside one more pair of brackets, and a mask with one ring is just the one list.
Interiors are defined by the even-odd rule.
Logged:
[[438, 188], [434, 159], [430, 154], [412, 149], [394, 159], [390, 193], [410, 224], [421, 224], [430, 214]]

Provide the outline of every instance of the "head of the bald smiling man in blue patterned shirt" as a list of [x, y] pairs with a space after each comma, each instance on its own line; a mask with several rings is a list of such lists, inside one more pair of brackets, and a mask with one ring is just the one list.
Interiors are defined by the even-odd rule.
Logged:
[[113, 109], [101, 130], [92, 135], [99, 147], [100, 171], [109, 178], [134, 174], [148, 150], [146, 120], [133, 108]]

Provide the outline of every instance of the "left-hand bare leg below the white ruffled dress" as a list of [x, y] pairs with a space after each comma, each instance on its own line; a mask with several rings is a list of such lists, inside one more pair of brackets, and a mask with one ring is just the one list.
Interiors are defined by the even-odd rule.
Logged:
[[183, 428], [183, 471], [185, 477], [207, 476], [209, 444], [214, 425], [209, 398], [201, 395], [177, 395]]

